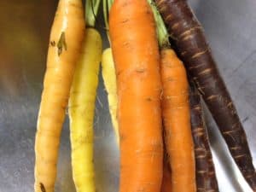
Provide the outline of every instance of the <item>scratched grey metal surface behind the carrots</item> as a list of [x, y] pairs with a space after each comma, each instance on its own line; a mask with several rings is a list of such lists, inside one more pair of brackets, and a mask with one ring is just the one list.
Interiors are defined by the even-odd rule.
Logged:
[[[246, 128], [256, 166], [256, 1], [190, 0]], [[34, 136], [56, 1], [0, 1], [0, 192], [33, 191]], [[101, 22], [98, 23], [102, 28]], [[108, 46], [107, 38], [105, 47]], [[98, 89], [95, 121], [97, 191], [118, 191], [119, 153], [106, 92]], [[221, 192], [249, 192], [215, 124], [208, 129]], [[75, 191], [68, 122], [61, 136], [56, 192]]]

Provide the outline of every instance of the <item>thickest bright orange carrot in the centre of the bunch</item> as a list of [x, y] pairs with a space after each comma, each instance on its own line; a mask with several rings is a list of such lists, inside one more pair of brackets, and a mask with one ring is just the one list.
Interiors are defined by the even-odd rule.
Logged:
[[115, 0], [109, 30], [119, 103], [119, 192], [160, 191], [160, 55], [147, 1]]

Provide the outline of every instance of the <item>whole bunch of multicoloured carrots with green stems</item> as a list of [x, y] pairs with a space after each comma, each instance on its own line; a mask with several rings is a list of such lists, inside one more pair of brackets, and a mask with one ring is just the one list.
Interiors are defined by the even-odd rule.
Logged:
[[103, 54], [94, 29], [99, 4], [86, 1], [84, 20], [81, 0], [59, 2], [38, 114], [35, 192], [54, 191], [67, 103], [73, 181], [78, 192], [96, 192], [93, 119], [101, 60], [120, 150], [119, 192], [218, 191], [201, 97], [256, 191], [245, 131], [188, 3], [103, 0], [111, 44]]

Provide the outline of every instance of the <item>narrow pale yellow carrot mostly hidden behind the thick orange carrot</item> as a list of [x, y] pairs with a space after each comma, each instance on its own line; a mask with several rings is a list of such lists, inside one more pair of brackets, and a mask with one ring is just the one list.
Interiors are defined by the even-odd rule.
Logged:
[[116, 140], [119, 144], [119, 125], [117, 119], [118, 96], [111, 48], [105, 49], [102, 54], [102, 78], [108, 92], [108, 108], [111, 115]]

